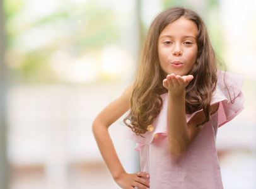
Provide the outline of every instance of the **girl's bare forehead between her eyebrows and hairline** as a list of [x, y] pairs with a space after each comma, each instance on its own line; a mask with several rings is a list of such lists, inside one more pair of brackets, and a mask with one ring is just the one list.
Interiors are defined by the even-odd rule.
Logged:
[[160, 37], [163, 35], [169, 35], [172, 37], [193, 36], [196, 38], [197, 31], [197, 25], [194, 21], [182, 17], [167, 25], [163, 31], [161, 31]]

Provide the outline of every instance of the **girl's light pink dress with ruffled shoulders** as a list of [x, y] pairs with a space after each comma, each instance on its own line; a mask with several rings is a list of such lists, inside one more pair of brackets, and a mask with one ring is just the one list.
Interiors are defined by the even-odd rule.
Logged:
[[[166, 127], [168, 93], [161, 95], [163, 109], [153, 122], [153, 131], [146, 132], [144, 138], [136, 135], [127, 127], [124, 137], [136, 144], [140, 152], [141, 171], [149, 173], [150, 188], [189, 188], [189, 189], [221, 189], [221, 170], [216, 151], [216, 134], [218, 127], [232, 120], [243, 110], [241, 86], [243, 76], [226, 72], [225, 87], [223, 71], [218, 71], [216, 91], [212, 95], [211, 104], [219, 103], [216, 113], [204, 125], [189, 149], [178, 161], [168, 151]], [[231, 96], [231, 100], [230, 100]], [[197, 113], [197, 112], [195, 112]], [[187, 122], [195, 115], [186, 115]]]

